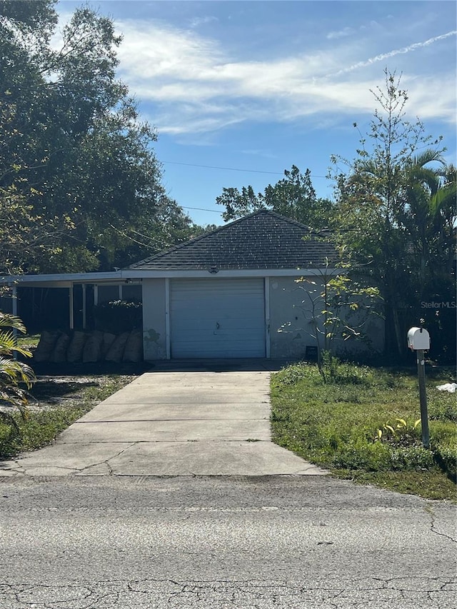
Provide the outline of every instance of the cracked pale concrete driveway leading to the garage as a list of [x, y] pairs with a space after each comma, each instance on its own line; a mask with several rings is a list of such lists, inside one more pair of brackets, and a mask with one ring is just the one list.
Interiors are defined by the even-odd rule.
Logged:
[[54, 445], [0, 463], [0, 475], [325, 473], [271, 443], [263, 365], [166, 366], [101, 402]]

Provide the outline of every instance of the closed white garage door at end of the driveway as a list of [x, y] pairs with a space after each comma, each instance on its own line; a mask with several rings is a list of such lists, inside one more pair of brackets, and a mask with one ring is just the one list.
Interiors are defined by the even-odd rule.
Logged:
[[265, 357], [263, 279], [171, 281], [172, 358]]

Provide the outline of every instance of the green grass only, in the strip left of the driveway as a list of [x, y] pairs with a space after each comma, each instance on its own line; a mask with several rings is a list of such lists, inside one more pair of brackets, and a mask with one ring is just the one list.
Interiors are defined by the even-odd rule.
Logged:
[[[77, 419], [94, 408], [97, 403], [111, 396], [131, 381], [131, 377], [112, 375], [94, 377], [88, 383], [59, 383], [46, 388], [37, 386], [36, 394], [40, 401], [46, 400], [46, 395], [56, 400], [56, 395], [69, 403], [69, 406], [56, 406], [45, 410], [29, 411], [24, 421], [19, 413], [14, 413], [14, 419], [19, 427], [19, 433], [14, 426], [0, 422], [0, 459], [8, 459], [25, 451], [34, 451], [46, 446], [54, 438]], [[33, 392], [33, 389], [32, 389]]]

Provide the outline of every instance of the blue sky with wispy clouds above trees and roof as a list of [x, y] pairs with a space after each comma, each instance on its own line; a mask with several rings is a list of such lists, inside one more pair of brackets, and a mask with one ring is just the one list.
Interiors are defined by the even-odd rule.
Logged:
[[[61, 1], [64, 20], [79, 3]], [[224, 186], [263, 191], [292, 164], [331, 196], [330, 156], [353, 158], [396, 71], [408, 118], [456, 163], [454, 1], [91, 1], [124, 35], [119, 78], [156, 126], [169, 196], [221, 224]], [[243, 171], [241, 171], [243, 170]]]

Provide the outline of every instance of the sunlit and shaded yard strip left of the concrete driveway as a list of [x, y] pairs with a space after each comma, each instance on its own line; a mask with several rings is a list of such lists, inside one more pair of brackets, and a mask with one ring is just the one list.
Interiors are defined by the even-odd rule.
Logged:
[[11, 411], [16, 426], [0, 422], [0, 459], [52, 443], [71, 423], [134, 378], [114, 373], [38, 376], [26, 416]]

